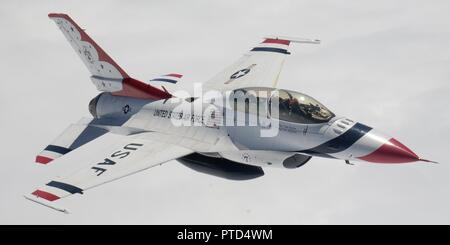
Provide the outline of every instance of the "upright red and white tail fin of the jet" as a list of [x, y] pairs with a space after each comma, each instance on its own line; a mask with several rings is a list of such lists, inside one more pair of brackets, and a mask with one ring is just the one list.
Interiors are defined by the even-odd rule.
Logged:
[[141, 99], [166, 99], [171, 95], [149, 84], [131, 78], [97, 43], [67, 14], [51, 13], [75, 52], [92, 74], [91, 80], [98, 90], [114, 95]]

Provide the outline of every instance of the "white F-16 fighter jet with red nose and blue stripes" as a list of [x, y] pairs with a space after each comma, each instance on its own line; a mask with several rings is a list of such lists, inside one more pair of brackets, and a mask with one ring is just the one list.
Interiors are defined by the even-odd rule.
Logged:
[[[298, 168], [312, 157], [346, 163], [429, 162], [309, 95], [276, 86], [290, 45], [319, 40], [266, 37], [188, 94], [177, 89], [181, 74], [139, 81], [68, 15], [49, 17], [101, 93], [89, 103], [92, 118], [71, 124], [36, 157], [40, 164], [79, 164], [73, 173], [25, 195], [44, 206], [67, 212], [57, 200], [171, 160], [231, 180], [260, 177], [265, 167]], [[102, 144], [103, 151], [91, 150], [108, 136], [113, 137]]]

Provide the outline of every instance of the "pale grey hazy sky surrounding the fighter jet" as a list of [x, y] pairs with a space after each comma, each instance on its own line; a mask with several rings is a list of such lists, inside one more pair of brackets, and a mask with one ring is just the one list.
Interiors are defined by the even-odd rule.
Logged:
[[[410, 0], [2, 1], [0, 224], [449, 224], [449, 11]], [[313, 158], [233, 182], [172, 161], [61, 200], [70, 215], [36, 205], [22, 195], [64, 169], [35, 155], [98, 93], [49, 12], [71, 15], [142, 80], [202, 82], [265, 35], [319, 38], [291, 49], [279, 87], [441, 164]]]

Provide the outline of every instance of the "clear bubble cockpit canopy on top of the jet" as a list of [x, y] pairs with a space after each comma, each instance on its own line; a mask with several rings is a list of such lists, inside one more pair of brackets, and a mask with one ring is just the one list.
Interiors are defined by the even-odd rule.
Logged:
[[[247, 113], [248, 108], [252, 108], [249, 106], [250, 103], [267, 103], [270, 116], [293, 123], [325, 123], [335, 116], [319, 101], [299, 92], [271, 88], [245, 88], [236, 90], [235, 95], [239, 94], [238, 92], [246, 98], [244, 103]], [[278, 103], [278, 113], [271, 111], [276, 103]], [[252, 113], [251, 109], [250, 113]]]

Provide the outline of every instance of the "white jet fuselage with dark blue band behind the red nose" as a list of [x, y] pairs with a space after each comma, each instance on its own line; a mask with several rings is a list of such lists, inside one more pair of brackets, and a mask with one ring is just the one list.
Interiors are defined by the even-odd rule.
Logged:
[[[258, 123], [248, 125], [248, 111], [217, 100], [188, 101], [149, 101], [103, 93], [95, 116], [121, 119], [121, 127], [130, 132], [156, 132], [161, 142], [256, 166], [283, 167], [286, 159], [296, 155], [360, 160], [389, 140], [345, 117], [334, 116], [324, 123], [293, 123], [258, 114]], [[262, 134], [275, 129], [271, 137]]]

